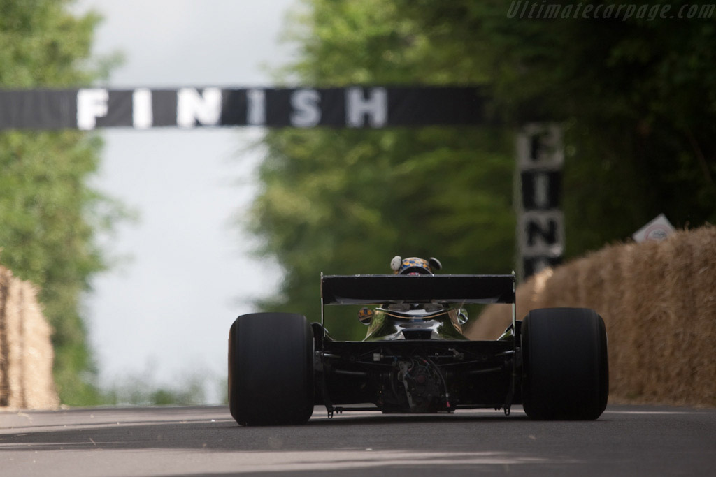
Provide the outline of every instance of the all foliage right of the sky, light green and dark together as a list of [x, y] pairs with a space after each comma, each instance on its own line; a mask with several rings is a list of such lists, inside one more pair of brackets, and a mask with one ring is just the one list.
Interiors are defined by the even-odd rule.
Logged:
[[566, 126], [569, 256], [659, 212], [716, 220], [714, 19], [519, 19], [509, 5], [306, 1], [287, 81], [483, 84], [505, 126], [269, 133], [251, 224], [286, 276], [262, 308], [315, 319], [319, 272], [386, 272], [395, 253], [511, 270], [511, 134], [526, 119]]

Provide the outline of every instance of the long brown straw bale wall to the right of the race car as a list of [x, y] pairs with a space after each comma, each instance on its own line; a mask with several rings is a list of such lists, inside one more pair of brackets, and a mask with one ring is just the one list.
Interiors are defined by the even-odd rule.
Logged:
[[[610, 245], [518, 287], [518, 319], [552, 307], [604, 318], [612, 403], [716, 406], [716, 227]], [[510, 311], [486, 308], [468, 336], [496, 338]]]

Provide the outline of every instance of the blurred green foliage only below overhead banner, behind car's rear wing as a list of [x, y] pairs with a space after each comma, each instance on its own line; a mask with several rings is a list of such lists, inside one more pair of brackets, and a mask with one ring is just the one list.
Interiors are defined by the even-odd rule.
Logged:
[[320, 272], [391, 272], [396, 254], [435, 255], [454, 273], [510, 267], [504, 134], [294, 130], [267, 140], [253, 230], [286, 275], [283, 295], [263, 308], [317, 320]]

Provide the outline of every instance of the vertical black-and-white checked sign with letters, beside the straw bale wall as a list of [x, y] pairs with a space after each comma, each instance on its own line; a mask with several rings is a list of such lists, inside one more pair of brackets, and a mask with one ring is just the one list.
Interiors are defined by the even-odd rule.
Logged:
[[518, 132], [515, 185], [520, 280], [562, 261], [563, 162], [561, 126], [533, 123]]

